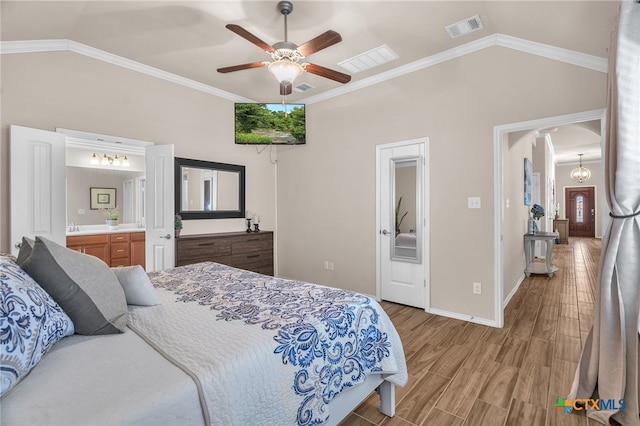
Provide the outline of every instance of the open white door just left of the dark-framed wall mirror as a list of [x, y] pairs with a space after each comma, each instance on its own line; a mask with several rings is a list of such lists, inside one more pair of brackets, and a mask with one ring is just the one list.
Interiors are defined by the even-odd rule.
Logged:
[[145, 149], [145, 246], [147, 271], [174, 266], [173, 145]]

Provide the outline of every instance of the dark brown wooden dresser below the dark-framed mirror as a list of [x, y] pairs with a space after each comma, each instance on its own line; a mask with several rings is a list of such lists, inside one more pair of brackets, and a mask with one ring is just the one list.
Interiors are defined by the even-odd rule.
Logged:
[[273, 232], [226, 232], [176, 238], [176, 265], [217, 262], [273, 275]]

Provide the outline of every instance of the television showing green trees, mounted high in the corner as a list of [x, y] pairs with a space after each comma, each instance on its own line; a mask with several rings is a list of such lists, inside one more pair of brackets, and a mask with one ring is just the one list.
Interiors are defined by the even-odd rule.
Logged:
[[246, 145], [306, 143], [304, 104], [235, 104], [235, 142]]

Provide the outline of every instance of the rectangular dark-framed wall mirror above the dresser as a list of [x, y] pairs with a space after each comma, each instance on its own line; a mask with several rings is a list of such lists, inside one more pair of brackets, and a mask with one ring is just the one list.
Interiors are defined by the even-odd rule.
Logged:
[[175, 212], [182, 219], [242, 218], [245, 167], [175, 158]]

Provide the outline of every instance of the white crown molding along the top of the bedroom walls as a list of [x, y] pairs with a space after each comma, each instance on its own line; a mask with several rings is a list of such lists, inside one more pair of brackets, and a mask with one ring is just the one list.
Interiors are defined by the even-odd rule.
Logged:
[[[537, 55], [603, 73], [606, 73], [608, 69], [606, 58], [588, 55], [585, 53], [576, 52], [574, 50], [562, 49], [559, 47], [524, 40], [517, 37], [511, 37], [505, 34], [493, 34], [463, 44], [461, 46], [454, 47], [453, 49], [445, 50], [443, 52], [436, 53], [435, 55], [419, 59], [409, 64], [391, 69], [389, 71], [385, 71], [380, 74], [364, 78], [362, 80], [351, 82], [336, 89], [328, 90], [318, 95], [301, 99], [298, 102], [305, 104], [322, 102], [336, 96], [341, 96], [346, 93], [351, 93], [356, 90], [363, 89], [365, 87], [373, 86], [375, 84], [379, 84], [384, 81], [403, 76], [405, 74], [429, 68], [442, 62], [456, 59], [492, 46], [506, 47], [531, 55]], [[122, 56], [114, 55], [112, 53], [105, 52], [104, 50], [96, 49], [94, 47], [87, 46], [86, 44], [78, 43], [72, 40], [57, 39], [0, 42], [0, 54], [60, 51], [68, 51], [88, 56], [93, 59], [127, 68], [132, 71], [137, 71], [142, 74], [179, 84], [181, 86], [208, 93], [210, 95], [218, 96], [232, 102], [253, 102], [251, 99], [247, 99], [242, 96], [238, 96], [233, 93], [215, 88], [213, 86], [209, 86], [207, 84], [203, 84], [195, 80], [179, 76], [177, 74], [163, 71], [158, 68], [144, 65], [140, 62], [132, 61]]]

